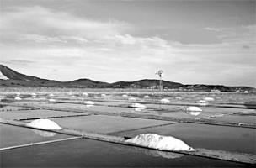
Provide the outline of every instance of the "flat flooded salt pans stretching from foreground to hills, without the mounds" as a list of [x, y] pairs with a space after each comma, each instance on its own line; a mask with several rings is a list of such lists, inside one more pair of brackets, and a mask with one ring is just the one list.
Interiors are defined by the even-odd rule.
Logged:
[[[40, 118], [78, 133], [126, 138], [155, 133], [182, 139], [195, 149], [256, 155], [255, 94], [27, 87], [2, 87], [0, 91], [1, 167], [249, 166], [12, 124]], [[199, 103], [205, 97], [206, 104]], [[161, 103], [163, 98], [169, 102]], [[146, 108], [134, 108], [134, 103]], [[202, 111], [187, 111], [191, 106]]]

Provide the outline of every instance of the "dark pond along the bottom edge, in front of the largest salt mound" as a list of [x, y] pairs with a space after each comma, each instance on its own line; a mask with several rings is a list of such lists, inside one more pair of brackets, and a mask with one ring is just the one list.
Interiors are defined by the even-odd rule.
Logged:
[[141, 165], [143, 167], [205, 167], [205, 165], [246, 167], [243, 164], [192, 155], [166, 158], [157, 155], [155, 150], [141, 150], [141, 148], [90, 139], [75, 139], [36, 145], [33, 148], [4, 150], [1, 151], [1, 158], [3, 167], [138, 167]]

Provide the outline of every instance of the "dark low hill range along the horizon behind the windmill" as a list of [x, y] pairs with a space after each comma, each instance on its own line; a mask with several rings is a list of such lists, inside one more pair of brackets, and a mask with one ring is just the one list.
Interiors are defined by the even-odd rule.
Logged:
[[[103, 81], [93, 81], [90, 79], [78, 79], [75, 81], [53, 81], [42, 79], [36, 76], [27, 76], [17, 71], [13, 71], [7, 66], [0, 65], [0, 86], [5, 87], [80, 87], [80, 88], [147, 88], [157, 89], [159, 80], [143, 79], [139, 81], [117, 81], [107, 83]], [[222, 85], [184, 85], [173, 81], [163, 81], [165, 89], [175, 89], [180, 91], [205, 91], [205, 92], [256, 92], [253, 87], [227, 87]]]

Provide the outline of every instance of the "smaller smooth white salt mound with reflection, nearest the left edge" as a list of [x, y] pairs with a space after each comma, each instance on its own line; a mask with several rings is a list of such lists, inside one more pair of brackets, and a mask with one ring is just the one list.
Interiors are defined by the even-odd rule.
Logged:
[[31, 123], [27, 123], [26, 125], [36, 129], [49, 129], [49, 130], [61, 129], [61, 127], [57, 123], [51, 121], [50, 119], [35, 119]]

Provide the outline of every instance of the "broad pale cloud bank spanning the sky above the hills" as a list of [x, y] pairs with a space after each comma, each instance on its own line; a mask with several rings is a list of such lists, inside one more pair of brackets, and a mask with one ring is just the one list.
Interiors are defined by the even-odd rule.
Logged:
[[220, 43], [182, 44], [157, 35], [134, 35], [136, 25], [118, 20], [42, 7], [9, 8], [2, 13], [1, 61], [17, 71], [61, 81], [132, 81], [154, 78], [161, 68], [170, 81], [254, 85], [245, 78], [256, 76], [254, 28], [206, 27], [216, 32]]

